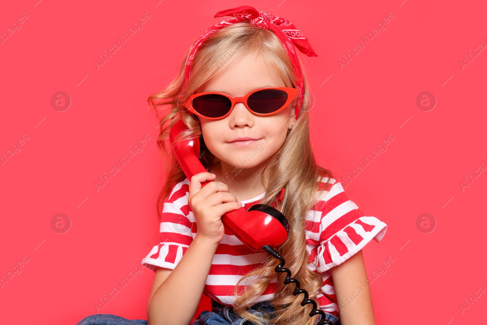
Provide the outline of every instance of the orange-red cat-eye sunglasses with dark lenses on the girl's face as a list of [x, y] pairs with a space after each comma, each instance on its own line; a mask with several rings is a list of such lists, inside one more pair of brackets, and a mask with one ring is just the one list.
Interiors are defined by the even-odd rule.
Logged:
[[189, 96], [184, 107], [198, 116], [219, 119], [229, 115], [235, 103], [242, 102], [250, 112], [264, 116], [280, 112], [296, 96], [298, 96], [298, 89], [289, 87], [263, 87], [242, 97], [206, 92]]

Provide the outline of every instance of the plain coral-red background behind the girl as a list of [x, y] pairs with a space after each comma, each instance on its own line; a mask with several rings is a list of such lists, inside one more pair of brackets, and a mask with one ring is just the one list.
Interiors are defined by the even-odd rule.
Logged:
[[[0, 275], [29, 259], [0, 288], [2, 323], [76, 324], [158, 243], [155, 195], [164, 166], [147, 97], [220, 20], [216, 11], [242, 4], [291, 20], [318, 54], [299, 55], [315, 98], [311, 128], [321, 165], [346, 175], [394, 137], [346, 187], [366, 215], [388, 225], [380, 243], [363, 249], [369, 275], [394, 259], [371, 284], [377, 324], [484, 319], [486, 294], [463, 313], [459, 304], [487, 289], [486, 172], [463, 191], [459, 183], [487, 167], [487, 51], [463, 69], [459, 60], [487, 45], [485, 3], [37, 1], [7, 1], [0, 10], [0, 32], [29, 15], [0, 45], [0, 153], [29, 137], [0, 166]], [[93, 61], [146, 12], [143, 29], [96, 69]], [[337, 60], [388, 13], [386, 30], [340, 69]], [[72, 100], [64, 112], [50, 103], [58, 91]], [[437, 100], [429, 112], [415, 103], [423, 91]], [[96, 191], [98, 177], [145, 134], [143, 151]], [[56, 213], [71, 220], [67, 232], [51, 228]], [[436, 220], [430, 233], [416, 227], [422, 213]], [[144, 268], [101, 312], [146, 319], [153, 276]]]

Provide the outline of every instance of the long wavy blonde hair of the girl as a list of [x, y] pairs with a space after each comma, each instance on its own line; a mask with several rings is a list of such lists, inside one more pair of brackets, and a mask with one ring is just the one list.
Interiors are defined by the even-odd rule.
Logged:
[[[168, 148], [170, 146], [166, 140], [171, 127], [179, 118], [189, 127], [189, 130], [181, 134], [180, 138], [201, 136], [199, 120], [187, 112], [182, 105], [182, 99], [191, 95], [206, 80], [237, 62], [239, 58], [251, 53], [259, 54], [268, 65], [273, 67], [274, 71], [281, 76], [286, 87], [296, 85], [292, 63], [281, 41], [272, 31], [260, 29], [249, 23], [235, 23], [225, 26], [207, 37], [196, 51], [190, 66], [191, 74], [186, 85], [183, 84], [183, 81], [189, 50], [181, 64], [179, 74], [174, 80], [165, 89], [148, 98], [150, 106], [155, 109], [160, 117], [160, 134], [157, 143], [161, 150], [164, 149], [163, 157], [169, 156]], [[300, 66], [302, 67], [301, 61]], [[305, 76], [304, 72], [303, 76]], [[284, 267], [289, 268], [292, 277], [300, 281], [301, 288], [308, 291], [309, 299], [316, 300], [317, 294], [321, 293], [323, 279], [318, 273], [306, 267], [309, 254], [306, 250], [305, 215], [316, 203], [320, 194], [319, 182], [327, 177], [326, 183], [329, 183], [332, 172], [318, 166], [313, 154], [309, 134], [310, 94], [305, 78], [303, 82], [305, 92], [299, 118], [292, 130], [288, 130], [281, 148], [262, 169], [265, 194], [260, 203], [271, 205], [278, 192], [285, 188], [282, 201], [276, 208], [287, 217], [290, 231], [288, 240], [278, 251], [286, 260]], [[292, 105], [296, 105], [296, 100]], [[291, 116], [291, 118], [295, 117]], [[201, 161], [205, 168], [209, 169], [219, 163], [219, 159], [210, 152]], [[159, 194], [157, 203], [159, 220], [164, 199], [169, 196], [175, 184], [186, 178], [174, 156], [172, 156], [167, 171], [166, 184]], [[312, 305], [301, 306], [300, 303], [304, 296], [301, 294], [294, 296], [292, 293], [295, 285], [286, 286], [283, 284], [286, 273], [274, 271], [279, 263], [279, 260], [269, 255], [261, 268], [244, 275], [234, 289], [236, 297], [233, 305], [234, 313], [263, 325], [261, 318], [252, 315], [246, 309], [252, 306], [255, 297], [262, 295], [270, 281], [277, 276], [278, 288], [270, 302], [276, 308], [273, 313], [275, 318], [270, 320], [269, 324], [312, 325], [316, 323], [319, 316], [309, 317]], [[249, 281], [250, 279], [253, 281]], [[247, 290], [245, 294], [239, 295], [241, 292], [238, 293], [237, 288], [243, 281]]]

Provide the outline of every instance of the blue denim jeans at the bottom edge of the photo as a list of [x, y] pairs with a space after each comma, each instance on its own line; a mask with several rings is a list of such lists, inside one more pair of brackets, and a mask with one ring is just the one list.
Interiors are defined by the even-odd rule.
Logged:
[[[274, 311], [268, 301], [257, 303], [251, 306], [247, 311], [262, 319], [267, 323], [269, 319], [274, 318], [274, 315], [267, 313]], [[335, 325], [340, 325], [333, 314], [325, 312], [326, 319], [332, 321]], [[321, 318], [320, 315], [313, 316], [317, 320]], [[83, 318], [76, 325], [147, 325], [146, 320], [134, 319], [128, 320], [126, 318], [111, 315], [111, 314], [94, 314]], [[190, 325], [251, 325], [250, 321], [240, 318], [233, 313], [233, 308], [225, 305], [220, 305], [216, 301], [211, 300], [211, 311], [202, 311], [198, 318]]]

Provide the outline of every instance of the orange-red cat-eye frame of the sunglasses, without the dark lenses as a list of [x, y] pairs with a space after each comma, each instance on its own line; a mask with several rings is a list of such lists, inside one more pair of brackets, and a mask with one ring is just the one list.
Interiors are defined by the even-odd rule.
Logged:
[[[279, 89], [279, 90], [282, 90], [282, 91], [286, 92], [286, 94], [287, 94], [287, 100], [284, 103], [284, 105], [282, 105], [282, 107], [280, 109], [278, 109], [278, 110], [276, 110], [276, 111], [274, 111], [272, 113], [266, 113], [266, 114], [256, 113], [256, 112], [252, 111], [252, 109], [250, 107], [248, 107], [247, 99], [252, 94], [257, 93], [258, 91], [261, 91], [261, 90], [265, 90], [265, 89]], [[205, 92], [205, 93], [198, 93], [198, 94], [193, 94], [193, 95], [189, 96], [189, 98], [184, 103], [184, 107], [186, 107], [189, 112], [191, 112], [191, 113], [193, 113], [195, 115], [198, 115], [200, 117], [204, 117], [204, 118], [207, 118], [207, 119], [220, 119], [220, 118], [224, 118], [224, 117], [228, 116], [230, 113], [232, 113], [233, 107], [235, 106], [236, 103], [242, 102], [242, 103], [244, 103], [245, 107], [247, 107], [247, 109], [250, 112], [252, 112], [253, 114], [260, 115], [260, 116], [265, 116], [265, 115], [276, 114], [276, 113], [280, 112], [281, 110], [283, 110], [285, 107], [287, 107], [296, 98], [296, 96], [298, 96], [298, 92], [299, 92], [298, 89], [296, 89], [296, 88], [290, 88], [290, 87], [263, 87], [263, 88], [259, 88], [259, 89], [253, 90], [250, 93], [248, 93], [247, 95], [242, 96], [242, 97], [232, 97], [230, 95], [227, 95], [227, 94], [224, 94], [224, 93], [219, 93], [219, 92]], [[225, 96], [225, 97], [227, 97], [227, 98], [230, 99], [230, 101], [232, 102], [232, 106], [230, 107], [230, 110], [228, 111], [227, 114], [225, 114], [224, 116], [221, 116], [221, 117], [207, 117], [205, 115], [201, 115], [200, 113], [196, 112], [196, 110], [193, 108], [193, 105], [192, 105], [193, 99], [196, 98], [196, 97], [199, 97], [199, 96], [209, 95], [209, 94], [218, 94], [218, 95], [222, 95], [222, 96]]]

